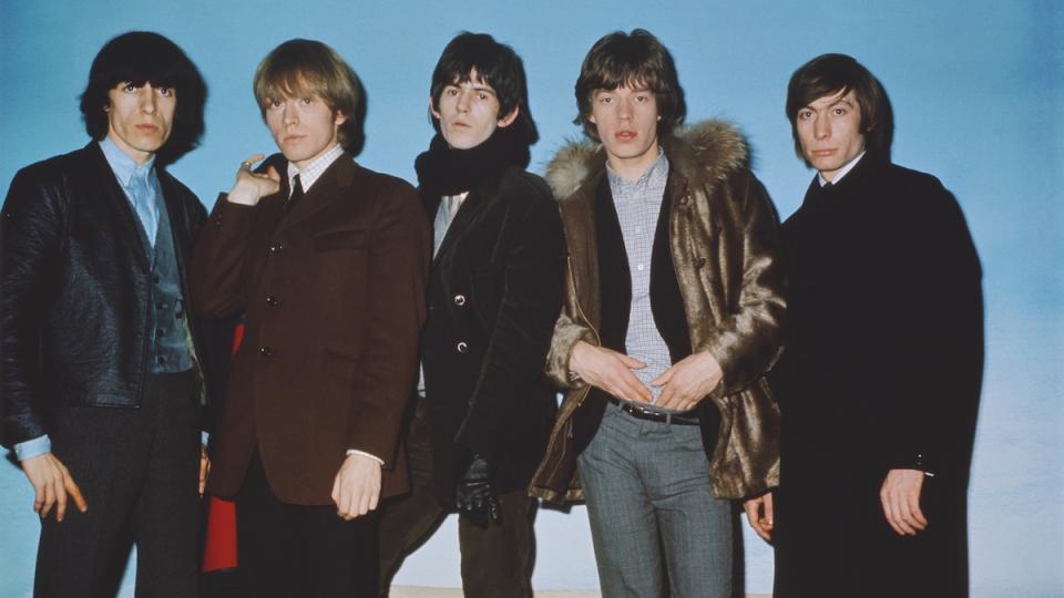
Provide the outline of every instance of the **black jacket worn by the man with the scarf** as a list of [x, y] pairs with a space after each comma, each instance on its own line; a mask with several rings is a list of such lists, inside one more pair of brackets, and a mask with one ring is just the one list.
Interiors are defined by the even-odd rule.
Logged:
[[[422, 197], [434, 221], [440, 197]], [[472, 453], [500, 493], [525, 487], [556, 411], [543, 374], [562, 307], [565, 240], [550, 188], [511, 167], [470, 192], [429, 275], [422, 332], [439, 499]]]

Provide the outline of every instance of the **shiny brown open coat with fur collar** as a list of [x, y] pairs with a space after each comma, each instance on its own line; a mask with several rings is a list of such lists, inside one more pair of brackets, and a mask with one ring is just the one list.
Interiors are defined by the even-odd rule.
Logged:
[[[779, 409], [765, 372], [779, 353], [785, 311], [782, 271], [775, 254], [778, 217], [747, 169], [739, 132], [706, 121], [665, 140], [674, 206], [668, 245], [694, 351], [708, 351], [724, 372], [710, 399], [720, 410], [716, 447], [708, 455], [714, 494], [743, 498], [779, 483]], [[554, 329], [548, 374], [566, 389], [550, 444], [530, 494], [580, 501], [573, 414], [590, 388], [567, 379], [573, 346], [600, 344], [601, 297], [595, 189], [605, 176], [600, 145], [573, 143], [548, 167], [569, 243], [565, 309]]]

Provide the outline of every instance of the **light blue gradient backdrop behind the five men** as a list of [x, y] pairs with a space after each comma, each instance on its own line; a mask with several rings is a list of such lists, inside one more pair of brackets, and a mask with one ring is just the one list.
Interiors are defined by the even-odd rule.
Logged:
[[[787, 79], [814, 55], [850, 53], [890, 93], [894, 159], [935, 174], [956, 195], [983, 259], [988, 353], [970, 501], [973, 594], [1064, 596], [1062, 6], [0, 0], [0, 184], [86, 142], [76, 102], [90, 62], [131, 29], [171, 37], [207, 80], [207, 135], [172, 171], [209, 207], [242, 159], [274, 150], [250, 80], [286, 39], [320, 39], [346, 56], [369, 91], [360, 162], [412, 178], [413, 156], [431, 135], [431, 69], [457, 32], [490, 32], [524, 58], [543, 140], [533, 169], [542, 171], [580, 134], [571, 123], [572, 85], [584, 53], [607, 31], [643, 27], [676, 59], [689, 121], [724, 116], [746, 131], [755, 171], [786, 217], [811, 177], [791, 150]], [[31, 504], [22, 473], [0, 463], [0, 596], [30, 592], [38, 534]], [[596, 587], [582, 508], [541, 512], [536, 527], [535, 586]], [[457, 587], [456, 538], [449, 522], [397, 581]], [[749, 534], [746, 546], [747, 590], [769, 592], [770, 549]]]

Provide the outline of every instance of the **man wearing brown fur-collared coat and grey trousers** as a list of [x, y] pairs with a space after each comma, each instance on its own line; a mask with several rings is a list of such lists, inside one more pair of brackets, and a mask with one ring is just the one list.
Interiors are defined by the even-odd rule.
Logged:
[[532, 491], [586, 501], [603, 596], [729, 597], [728, 499], [779, 472], [776, 213], [734, 125], [677, 128], [651, 33], [598, 40], [576, 102], [601, 145], [548, 169], [570, 257], [548, 371], [566, 394]]

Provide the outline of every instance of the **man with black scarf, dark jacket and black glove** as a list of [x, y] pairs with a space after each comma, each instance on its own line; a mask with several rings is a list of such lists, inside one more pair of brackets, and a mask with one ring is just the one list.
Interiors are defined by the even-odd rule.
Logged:
[[524, 169], [538, 135], [509, 45], [451, 40], [429, 112], [437, 135], [416, 168], [436, 257], [407, 443], [413, 492], [381, 520], [381, 595], [457, 509], [466, 596], [531, 598], [526, 491], [556, 410], [543, 364], [562, 306], [562, 223], [546, 184]]

